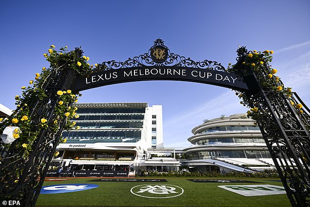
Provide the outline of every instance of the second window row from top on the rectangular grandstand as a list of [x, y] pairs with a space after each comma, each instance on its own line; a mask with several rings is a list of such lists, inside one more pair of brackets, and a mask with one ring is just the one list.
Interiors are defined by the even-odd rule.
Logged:
[[143, 120], [144, 115], [80, 115], [73, 120]]

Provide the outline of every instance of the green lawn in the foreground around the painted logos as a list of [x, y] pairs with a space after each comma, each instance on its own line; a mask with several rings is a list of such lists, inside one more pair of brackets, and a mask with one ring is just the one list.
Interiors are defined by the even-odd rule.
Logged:
[[[144, 198], [133, 195], [130, 190], [141, 182], [89, 182], [100, 178], [73, 178], [68, 181], [47, 181], [44, 185], [55, 184], [97, 184], [99, 187], [69, 193], [41, 194], [37, 201], [38, 207], [49, 206], [92, 206], [92, 207], [289, 207], [286, 194], [267, 196], [243, 196], [218, 187], [218, 185], [249, 185], [256, 183], [194, 183], [187, 179], [194, 178], [156, 178], [166, 179], [167, 183], [177, 185], [184, 189], [180, 196], [165, 199]], [[141, 179], [141, 178], [139, 178]], [[150, 179], [150, 178], [145, 178]], [[199, 178], [201, 179], [201, 178]], [[214, 178], [205, 178], [214, 179]], [[218, 178], [223, 179], [223, 178]], [[227, 178], [225, 178], [227, 179]], [[281, 182], [271, 181], [275, 179], [244, 179], [261, 182], [259, 184], [271, 184], [282, 186]]]

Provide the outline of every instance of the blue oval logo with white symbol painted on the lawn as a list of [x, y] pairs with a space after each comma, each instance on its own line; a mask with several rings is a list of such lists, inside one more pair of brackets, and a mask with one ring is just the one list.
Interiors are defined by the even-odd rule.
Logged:
[[69, 193], [76, 192], [82, 190], [89, 190], [92, 188], [96, 188], [99, 185], [97, 184], [56, 184], [56, 185], [48, 185], [43, 186], [40, 194], [56, 194], [56, 193]]

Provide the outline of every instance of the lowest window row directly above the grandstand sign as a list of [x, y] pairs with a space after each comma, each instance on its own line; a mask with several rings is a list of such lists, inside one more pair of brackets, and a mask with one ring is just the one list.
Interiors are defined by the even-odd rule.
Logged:
[[141, 138], [141, 131], [71, 131], [63, 132], [63, 137], [68, 139], [111, 139], [111, 138]]

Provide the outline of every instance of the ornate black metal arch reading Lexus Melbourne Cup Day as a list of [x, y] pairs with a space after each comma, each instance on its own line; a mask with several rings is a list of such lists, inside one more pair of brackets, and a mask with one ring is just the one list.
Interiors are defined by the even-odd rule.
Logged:
[[[246, 61], [246, 56], [249, 52], [245, 47], [239, 48], [237, 52], [237, 64], [230, 72], [227, 72], [220, 63], [215, 61], [204, 60], [202, 62], [197, 62], [190, 58], [174, 54], [170, 52], [169, 48], [164, 45], [162, 40], [157, 39], [154, 46], [152, 46], [147, 53], [129, 58], [124, 62], [103, 62], [102, 64], [98, 64], [96, 69], [87, 76], [77, 74], [69, 69], [68, 66], [65, 66], [63, 70], [55, 70], [50, 75], [48, 81], [44, 83], [42, 90], [44, 90], [46, 96], [38, 97], [37, 100], [34, 100], [35, 104], [31, 111], [31, 117], [35, 120], [35, 124], [40, 123], [39, 120], [43, 117], [46, 118], [47, 123], [52, 122], [55, 107], [59, 103], [59, 98], [55, 95], [56, 92], [59, 90], [64, 91], [71, 89], [79, 91], [81, 89], [86, 89], [85, 87], [79, 88], [77, 86], [78, 82], [83, 80], [90, 81], [91, 79], [87, 78], [92, 78], [94, 76], [93, 79], [95, 84], [99, 79], [99, 77], [96, 79], [96, 75], [98, 74], [110, 73], [113, 75], [111, 72], [130, 72], [135, 69], [140, 69], [139, 71], [141, 71], [141, 69], [185, 69], [185, 74], [189, 69], [192, 69], [197, 71], [204, 70], [210, 72], [212, 75], [229, 74], [232, 75], [232, 77], [236, 77], [235, 75], [237, 75], [239, 80], [243, 83], [244, 88], [238, 88], [228, 84], [225, 86], [218, 85], [244, 92], [244, 94], [249, 97], [248, 105], [250, 107], [256, 107], [257, 110], [262, 112], [258, 119], [258, 124], [279, 172], [282, 183], [287, 191], [291, 205], [301, 207], [309, 206], [309, 109], [303, 104], [306, 110], [303, 115], [298, 115], [286, 96], [271, 90], [268, 91], [266, 87], [264, 88], [264, 86], [262, 86], [260, 79], [270, 73], [268, 67], [266, 65], [262, 66], [262, 70], [260, 71], [248, 70], [244, 68], [243, 63]], [[83, 51], [76, 48], [75, 54], [77, 58], [81, 59]], [[137, 70], [137, 72], [139, 71]], [[128, 73], [126, 74], [128, 75]], [[181, 73], [176, 74], [179, 75]], [[100, 78], [103, 79], [102, 76], [100, 76]], [[134, 79], [134, 77], [132, 78]], [[153, 80], [161, 80], [160, 77], [151, 76], [150, 79], [152, 78]], [[177, 78], [170, 78], [171, 80], [177, 80]], [[199, 79], [199, 77], [197, 77], [197, 79]], [[131, 80], [119, 79], [111, 84], [122, 81], [130, 82]], [[183, 79], [183, 81], [188, 80]], [[205, 80], [197, 80], [196, 82], [212, 84], [212, 82], [210, 83]], [[99, 85], [108, 84], [99, 83]], [[283, 86], [283, 84], [279, 82], [279, 86]], [[89, 88], [94, 87], [98, 86], [90, 86]], [[302, 103], [296, 94], [295, 97], [292, 98], [295, 103]], [[29, 155], [29, 159], [25, 159], [22, 153], [15, 149], [15, 146], [21, 144], [19, 143], [19, 139], [16, 139], [7, 148], [0, 147], [0, 198], [19, 200], [21, 201], [21, 206], [24, 207], [35, 206], [44, 182], [46, 171], [64, 128], [65, 119], [59, 121], [61, 124], [57, 132], [45, 129], [40, 131], [35, 140], [33, 151]]]

